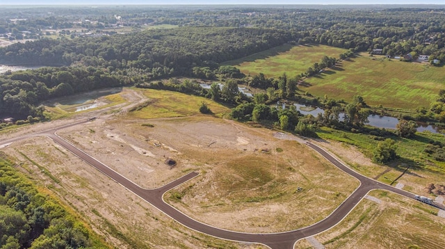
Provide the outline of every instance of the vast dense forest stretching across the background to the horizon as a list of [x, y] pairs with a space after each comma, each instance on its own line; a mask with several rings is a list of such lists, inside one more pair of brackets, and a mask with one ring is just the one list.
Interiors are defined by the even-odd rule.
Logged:
[[[51, 10], [54, 13], [66, 11], [63, 8]], [[22, 8], [0, 19], [0, 26], [3, 26], [0, 33], [5, 32], [10, 40], [15, 39], [13, 34], [17, 31], [31, 32], [26, 31], [31, 26], [40, 33], [49, 29], [49, 25], [51, 28], [58, 26], [60, 31], [57, 39], [43, 37], [0, 48], [0, 63], [3, 64], [58, 65], [27, 72], [7, 72], [0, 77], [0, 111], [19, 119], [31, 116], [30, 121], [44, 118], [39, 106], [44, 99], [108, 86], [137, 84], [147, 87], [144, 85], [147, 81], [168, 77], [223, 80], [234, 77], [238, 78], [237, 83], [280, 90], [278, 79], [264, 79], [261, 75], [239, 79], [243, 76], [222, 72], [224, 67], [220, 67], [220, 63], [286, 43], [349, 49], [337, 58], [308, 65], [306, 72], [292, 72], [300, 77], [310, 77], [324, 66], [329, 67], [357, 52], [373, 53], [373, 49], [381, 49], [381, 54], [389, 56], [410, 53], [414, 58], [428, 55], [431, 63], [433, 60], [445, 62], [445, 19], [442, 18], [445, 10], [441, 8], [213, 6], [179, 9], [170, 6], [117, 12], [111, 7], [97, 10], [79, 7], [72, 10], [72, 15], [58, 18], [44, 17], [40, 9], [35, 15], [30, 11]], [[48, 22], [41, 22], [42, 19]], [[97, 37], [74, 35], [74, 31], [63, 29], [63, 22], [75, 26], [84, 24], [86, 19], [103, 25], [80, 27], [98, 34]], [[157, 24], [176, 25], [177, 28], [136, 29]], [[103, 32], [113, 25], [132, 26], [135, 31]], [[278, 93], [277, 96], [292, 98], [293, 95]], [[243, 96], [238, 97], [238, 101], [223, 96], [220, 99], [232, 104], [242, 104], [239, 99], [252, 101]], [[441, 106], [437, 104], [432, 113], [439, 115]]]

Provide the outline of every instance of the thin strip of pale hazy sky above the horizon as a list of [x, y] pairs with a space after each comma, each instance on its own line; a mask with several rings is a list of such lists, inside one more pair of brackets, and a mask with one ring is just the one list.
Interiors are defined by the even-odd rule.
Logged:
[[130, 4], [445, 4], [445, 0], [0, 0], [0, 5], [130, 5]]

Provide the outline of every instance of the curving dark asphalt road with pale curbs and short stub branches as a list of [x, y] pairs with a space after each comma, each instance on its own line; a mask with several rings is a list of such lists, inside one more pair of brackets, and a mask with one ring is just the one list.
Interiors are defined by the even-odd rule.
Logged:
[[[222, 230], [217, 227], [211, 227], [209, 225], [200, 223], [197, 220], [193, 220], [192, 218], [181, 213], [181, 211], [178, 211], [177, 209], [175, 209], [174, 207], [170, 206], [169, 204], [163, 201], [162, 197], [166, 191], [170, 190], [171, 188], [175, 188], [175, 186], [179, 186], [180, 184], [183, 184], [184, 182], [187, 182], [190, 179], [193, 179], [193, 177], [196, 177], [198, 175], [197, 172], [191, 172], [188, 175], [185, 175], [184, 177], [175, 180], [174, 182], [170, 182], [170, 184], [162, 186], [161, 188], [155, 188], [155, 189], [141, 188], [140, 186], [131, 182], [129, 179], [120, 175], [118, 172], [115, 172], [111, 168], [108, 168], [108, 166], [92, 158], [91, 156], [86, 154], [86, 152], [79, 150], [77, 147], [67, 142], [67, 140], [60, 138], [59, 136], [56, 135], [56, 131], [58, 129], [74, 126], [77, 124], [81, 124], [83, 122], [67, 124], [62, 127], [54, 127], [53, 129], [40, 131], [35, 134], [29, 134], [19, 138], [4, 140], [0, 142], [0, 145], [12, 143], [15, 140], [31, 136], [48, 136], [59, 145], [62, 145], [67, 150], [70, 150], [70, 152], [72, 152], [74, 155], [79, 156], [80, 159], [86, 161], [86, 163], [90, 164], [90, 166], [93, 166], [100, 172], [104, 173], [105, 175], [113, 179], [115, 182], [118, 182], [118, 184], [124, 186], [129, 191], [138, 195], [140, 198], [143, 198], [144, 200], [152, 204], [154, 207], [162, 211], [164, 214], [167, 214], [168, 216], [176, 220], [178, 223], [181, 223], [182, 225], [189, 227], [193, 230], [196, 230], [198, 232], [209, 234], [211, 236], [216, 236], [221, 239], [229, 239], [232, 241], [244, 241], [252, 243], [263, 243], [264, 245], [269, 246], [270, 248], [273, 249], [293, 248], [294, 243], [296, 243], [296, 241], [298, 241], [299, 239], [303, 239], [308, 236], [313, 236], [314, 234], [318, 234], [320, 232], [329, 229], [330, 227], [333, 227], [334, 225], [337, 225], [337, 223], [339, 223], [344, 217], [346, 217], [349, 214], [349, 212], [355, 207], [355, 205], [357, 205], [360, 202], [360, 200], [362, 200], [362, 198], [364, 198], [364, 196], [373, 189], [385, 189], [387, 191], [392, 191], [394, 193], [403, 195], [407, 198], [414, 199], [414, 194], [409, 193], [407, 191], [403, 191], [398, 188], [394, 188], [393, 186], [389, 186], [387, 184], [382, 184], [368, 177], [364, 177], [363, 175], [360, 175], [359, 173], [344, 166], [343, 163], [339, 162], [337, 159], [335, 159], [321, 147], [318, 147], [313, 143], [306, 143], [309, 147], [312, 147], [312, 149], [316, 150], [316, 152], [320, 153], [328, 161], [333, 163], [334, 166], [337, 166], [338, 168], [348, 173], [349, 175], [352, 175], [353, 177], [359, 179], [361, 183], [360, 186], [337, 209], [335, 209], [335, 211], [333, 211], [332, 214], [330, 214], [330, 216], [328, 216], [324, 220], [321, 220], [320, 222], [314, 225], [310, 225], [309, 227], [304, 227], [299, 230], [293, 230], [289, 232], [281, 232], [275, 234], [248, 234], [243, 232]], [[437, 207], [444, 209], [443, 205]]]

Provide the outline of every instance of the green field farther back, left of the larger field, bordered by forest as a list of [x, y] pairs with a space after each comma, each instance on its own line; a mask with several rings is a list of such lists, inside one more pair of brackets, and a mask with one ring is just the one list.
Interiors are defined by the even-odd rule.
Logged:
[[323, 56], [339, 58], [346, 49], [324, 45], [293, 46], [282, 45], [245, 58], [228, 61], [225, 65], [238, 67], [246, 75], [262, 72], [266, 77], [288, 77], [306, 72], [307, 68], [321, 61]]

